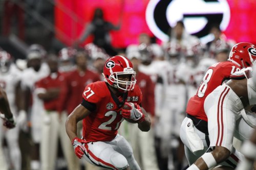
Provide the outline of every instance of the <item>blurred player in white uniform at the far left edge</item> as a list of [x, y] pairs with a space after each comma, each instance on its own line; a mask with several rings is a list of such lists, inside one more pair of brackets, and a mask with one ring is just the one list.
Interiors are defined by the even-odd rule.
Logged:
[[[22, 156], [19, 147], [19, 132], [27, 123], [27, 116], [25, 111], [19, 110], [19, 89], [20, 70], [13, 63], [13, 59], [6, 51], [0, 51], [0, 86], [5, 89], [8, 95], [11, 112], [16, 117], [16, 128], [7, 130], [3, 129], [3, 139], [6, 140], [8, 149], [9, 166], [15, 170], [20, 170], [22, 167]], [[3, 140], [2, 139], [2, 140]]]

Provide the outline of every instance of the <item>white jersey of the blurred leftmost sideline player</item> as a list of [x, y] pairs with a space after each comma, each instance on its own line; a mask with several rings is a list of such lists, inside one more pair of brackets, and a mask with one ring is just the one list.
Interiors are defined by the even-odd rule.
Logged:
[[15, 88], [20, 81], [21, 71], [11, 64], [10, 69], [3, 73], [0, 72], [0, 86], [3, 87], [7, 93], [11, 111], [15, 113]]

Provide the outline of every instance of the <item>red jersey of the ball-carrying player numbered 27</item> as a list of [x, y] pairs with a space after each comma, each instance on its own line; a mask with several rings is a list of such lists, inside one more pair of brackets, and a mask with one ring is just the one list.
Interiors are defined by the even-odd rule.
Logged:
[[[122, 106], [118, 106], [112, 95], [114, 94], [103, 81], [91, 83], [84, 89], [83, 99], [96, 106], [95, 111], [83, 119], [83, 138], [87, 141], [111, 141], [117, 135], [124, 119], [121, 114]], [[137, 84], [126, 95], [126, 102], [141, 103], [142, 93]], [[119, 99], [119, 102], [120, 100], [123, 99]]]

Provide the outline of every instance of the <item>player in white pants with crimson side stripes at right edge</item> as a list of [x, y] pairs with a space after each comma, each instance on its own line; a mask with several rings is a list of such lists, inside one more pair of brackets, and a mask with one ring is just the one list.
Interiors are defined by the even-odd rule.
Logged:
[[[240, 52], [248, 53], [250, 62], [245, 64], [252, 64], [256, 58], [255, 46], [244, 45], [243, 49], [245, 51], [239, 49], [232, 52], [237, 58], [241, 57]], [[221, 165], [218, 169], [234, 169], [238, 161], [243, 158], [243, 155], [233, 147], [232, 142], [234, 136], [244, 140], [252, 132], [246, 121], [248, 125], [244, 123], [239, 129], [240, 124], [243, 124], [239, 113], [243, 109], [255, 111], [255, 77], [248, 79], [249, 70], [250, 67], [234, 73], [230, 76], [230, 81], [218, 86], [207, 95], [204, 110], [208, 118], [210, 148], [188, 168], [189, 170], [211, 169], [218, 164]]]

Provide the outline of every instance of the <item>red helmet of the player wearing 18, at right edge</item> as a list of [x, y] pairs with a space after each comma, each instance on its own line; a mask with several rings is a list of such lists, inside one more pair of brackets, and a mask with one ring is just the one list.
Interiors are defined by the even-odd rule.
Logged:
[[249, 42], [240, 42], [232, 47], [228, 61], [236, 63], [243, 68], [251, 66], [255, 59], [256, 46]]

